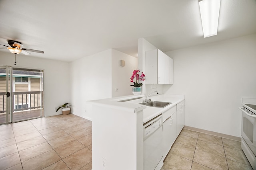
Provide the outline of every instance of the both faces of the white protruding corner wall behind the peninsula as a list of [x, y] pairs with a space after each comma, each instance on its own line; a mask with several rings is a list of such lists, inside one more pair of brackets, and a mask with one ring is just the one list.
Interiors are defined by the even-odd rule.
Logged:
[[[120, 66], [120, 60], [125, 61], [124, 67]], [[132, 95], [130, 76], [137, 68], [137, 58], [114, 49], [73, 61], [71, 63], [72, 113], [92, 120], [88, 100]]]

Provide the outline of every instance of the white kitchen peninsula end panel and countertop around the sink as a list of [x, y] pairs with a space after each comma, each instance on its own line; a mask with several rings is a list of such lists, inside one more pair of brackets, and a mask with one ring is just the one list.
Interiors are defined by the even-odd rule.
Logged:
[[161, 94], [150, 98], [172, 104], [163, 108], [145, 106], [140, 104], [144, 95], [89, 101], [93, 170], [143, 169], [143, 124], [173, 107], [176, 109], [184, 101], [184, 95]]

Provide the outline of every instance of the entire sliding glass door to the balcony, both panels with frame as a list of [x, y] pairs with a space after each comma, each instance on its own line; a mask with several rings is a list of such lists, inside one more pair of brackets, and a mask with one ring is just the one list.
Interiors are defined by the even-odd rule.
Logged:
[[0, 124], [43, 116], [43, 70], [0, 67]]

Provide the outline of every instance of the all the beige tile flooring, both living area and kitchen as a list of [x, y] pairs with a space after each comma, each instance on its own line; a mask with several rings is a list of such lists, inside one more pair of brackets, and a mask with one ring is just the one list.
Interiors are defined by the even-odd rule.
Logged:
[[[252, 170], [241, 143], [183, 129], [162, 170]], [[92, 122], [57, 115], [0, 126], [0, 170], [91, 170]]]

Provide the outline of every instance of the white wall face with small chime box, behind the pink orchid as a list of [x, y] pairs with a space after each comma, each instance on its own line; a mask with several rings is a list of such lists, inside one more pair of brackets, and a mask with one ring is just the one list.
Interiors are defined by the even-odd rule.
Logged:
[[[125, 66], [120, 66], [120, 60]], [[133, 70], [138, 69], [138, 58], [112, 49], [112, 97], [132, 95], [130, 78]], [[118, 91], [116, 91], [118, 88]]]

